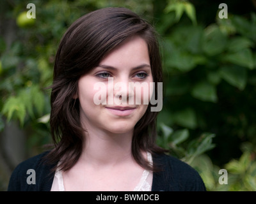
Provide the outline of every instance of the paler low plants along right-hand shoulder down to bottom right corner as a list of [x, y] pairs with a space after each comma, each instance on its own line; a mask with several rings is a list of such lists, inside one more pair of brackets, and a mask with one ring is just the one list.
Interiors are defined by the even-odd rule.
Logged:
[[243, 154], [239, 159], [232, 159], [224, 168], [227, 170], [227, 184], [220, 183], [221, 168], [212, 163], [205, 153], [215, 147], [212, 138], [215, 135], [203, 133], [195, 140], [189, 140], [188, 129], [173, 131], [161, 124], [157, 143], [169, 150], [172, 156], [190, 164], [204, 180], [207, 191], [255, 191], [256, 161], [255, 148], [251, 143], [243, 143]]

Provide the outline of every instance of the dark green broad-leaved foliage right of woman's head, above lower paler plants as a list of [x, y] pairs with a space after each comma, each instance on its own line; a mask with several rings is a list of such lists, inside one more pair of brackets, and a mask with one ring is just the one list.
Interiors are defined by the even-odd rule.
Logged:
[[[227, 84], [230, 85], [228, 93], [234, 96], [233, 100], [242, 92], [248, 96], [255, 87], [256, 15], [252, 13], [251, 18], [247, 19], [230, 14], [228, 19], [217, 17], [216, 22], [202, 27], [180, 18], [177, 4], [184, 3], [187, 2], [170, 1], [165, 11], [174, 12], [175, 15], [168, 15], [168, 20], [163, 18], [158, 29], [164, 36], [164, 110], [167, 112], [160, 113], [159, 123], [208, 131], [214, 124], [207, 124], [207, 118], [215, 120], [218, 128], [216, 116], [220, 116], [220, 112], [210, 110], [220, 110], [224, 101], [230, 101], [225, 96]], [[221, 117], [228, 114], [226, 109]], [[223, 120], [230, 124], [227, 119]], [[247, 125], [252, 128], [255, 123]], [[256, 131], [252, 136], [255, 134]]]

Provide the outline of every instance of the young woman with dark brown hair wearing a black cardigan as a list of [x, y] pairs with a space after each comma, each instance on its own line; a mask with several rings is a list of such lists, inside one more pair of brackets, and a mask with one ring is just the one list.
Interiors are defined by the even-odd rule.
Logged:
[[76, 20], [54, 64], [55, 147], [19, 164], [8, 191], [205, 191], [193, 168], [156, 145], [157, 112], [145, 101], [159, 96], [157, 82], [161, 57], [145, 20], [126, 8]]

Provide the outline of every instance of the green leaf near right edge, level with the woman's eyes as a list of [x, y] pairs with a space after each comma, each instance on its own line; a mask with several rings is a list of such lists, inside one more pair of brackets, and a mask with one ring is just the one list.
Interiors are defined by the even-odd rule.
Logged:
[[241, 66], [222, 66], [219, 71], [221, 77], [234, 87], [243, 90], [247, 82], [247, 70]]

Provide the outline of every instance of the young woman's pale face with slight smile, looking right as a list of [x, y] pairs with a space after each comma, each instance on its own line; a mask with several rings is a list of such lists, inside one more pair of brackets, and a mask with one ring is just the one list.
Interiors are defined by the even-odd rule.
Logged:
[[147, 110], [150, 82], [147, 43], [133, 36], [79, 79], [75, 98], [80, 101], [82, 126], [109, 133], [132, 132]]

